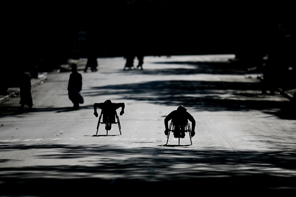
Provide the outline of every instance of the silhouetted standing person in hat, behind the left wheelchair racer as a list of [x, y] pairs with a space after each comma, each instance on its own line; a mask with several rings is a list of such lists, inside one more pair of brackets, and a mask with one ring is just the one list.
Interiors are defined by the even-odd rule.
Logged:
[[72, 64], [72, 73], [70, 74], [68, 83], [68, 96], [74, 106], [72, 110], [78, 110], [79, 104], [83, 104], [83, 97], [81, 95], [82, 89], [82, 75], [77, 72], [77, 65]]

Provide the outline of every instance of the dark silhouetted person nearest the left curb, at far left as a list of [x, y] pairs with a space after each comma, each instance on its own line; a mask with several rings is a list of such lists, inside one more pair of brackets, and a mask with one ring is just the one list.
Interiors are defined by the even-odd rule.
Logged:
[[27, 75], [25, 72], [20, 73], [20, 108], [19, 110], [22, 112], [24, 106], [29, 106], [29, 109], [32, 109], [33, 101], [31, 95], [31, 77]]

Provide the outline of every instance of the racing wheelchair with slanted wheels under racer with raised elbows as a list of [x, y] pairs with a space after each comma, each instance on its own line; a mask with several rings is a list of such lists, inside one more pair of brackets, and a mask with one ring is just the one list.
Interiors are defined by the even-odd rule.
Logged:
[[[103, 121], [101, 122], [102, 116], [103, 116]], [[115, 121], [114, 117], [116, 118], [116, 121]], [[100, 124], [105, 125], [107, 135], [108, 135], [108, 130], [111, 130], [111, 125], [112, 124], [117, 124], [118, 128], [119, 128], [120, 135], [121, 135], [121, 126], [120, 126], [119, 117], [117, 115], [116, 110], [115, 110], [115, 114], [104, 114], [103, 110], [101, 111], [101, 115], [99, 117], [98, 125], [96, 127], [96, 135], [98, 135]]]

